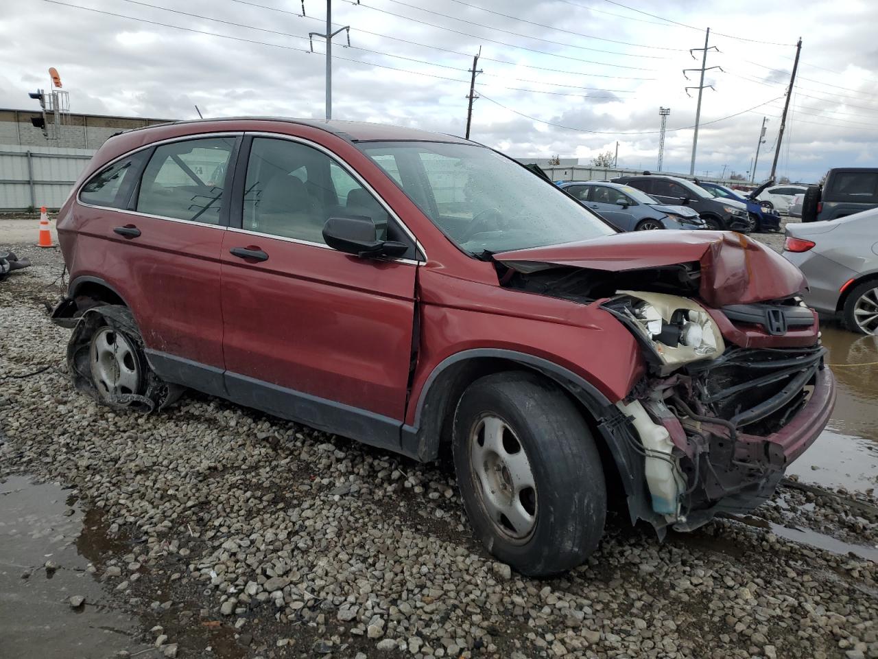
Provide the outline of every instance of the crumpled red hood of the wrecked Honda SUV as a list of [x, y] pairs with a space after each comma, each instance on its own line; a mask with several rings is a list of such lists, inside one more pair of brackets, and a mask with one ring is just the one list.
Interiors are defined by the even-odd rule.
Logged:
[[804, 275], [795, 265], [774, 250], [730, 231], [632, 231], [579, 243], [500, 252], [493, 258], [518, 272], [556, 266], [623, 272], [698, 261], [702, 273], [699, 296], [714, 308], [787, 298], [806, 287]]

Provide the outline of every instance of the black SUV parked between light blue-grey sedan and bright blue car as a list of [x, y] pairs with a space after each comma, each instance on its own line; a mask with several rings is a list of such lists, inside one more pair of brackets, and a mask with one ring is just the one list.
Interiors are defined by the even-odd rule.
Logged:
[[709, 228], [729, 229], [750, 233], [753, 221], [747, 206], [733, 199], [716, 199], [714, 195], [685, 178], [664, 176], [618, 177], [613, 183], [623, 183], [642, 190], [662, 204], [689, 206], [701, 215]]

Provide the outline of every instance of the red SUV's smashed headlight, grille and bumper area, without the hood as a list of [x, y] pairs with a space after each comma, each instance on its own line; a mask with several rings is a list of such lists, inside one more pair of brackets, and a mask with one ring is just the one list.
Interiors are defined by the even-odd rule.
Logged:
[[[649, 364], [616, 407], [644, 446], [652, 510], [690, 530], [772, 496], [834, 404], [816, 315], [795, 298], [709, 310], [671, 295], [623, 292], [601, 306], [636, 333]], [[739, 328], [723, 337], [715, 317], [735, 328], [731, 319], [745, 311], [752, 315], [745, 320], [764, 319], [759, 329], [738, 322], [749, 326], [746, 336], [773, 330], [774, 347], [735, 344]], [[781, 327], [810, 329], [813, 343], [786, 346]]]

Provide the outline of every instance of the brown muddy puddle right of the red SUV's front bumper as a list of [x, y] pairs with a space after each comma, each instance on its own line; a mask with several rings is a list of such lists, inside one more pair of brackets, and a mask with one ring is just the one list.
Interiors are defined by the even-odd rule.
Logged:
[[826, 488], [878, 486], [878, 337], [823, 322], [823, 342], [838, 384], [835, 411], [823, 435], [788, 474]]

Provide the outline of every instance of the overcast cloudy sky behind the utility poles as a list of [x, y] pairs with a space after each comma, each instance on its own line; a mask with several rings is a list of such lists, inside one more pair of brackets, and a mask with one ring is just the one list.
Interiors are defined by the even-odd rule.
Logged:
[[[324, 116], [324, 46], [308, 53], [307, 36], [325, 28], [325, 0], [305, 0], [305, 18], [301, 0], [59, 3], [0, 0], [0, 107], [35, 107], [27, 92], [47, 88], [54, 66], [73, 112], [192, 119], [198, 104], [205, 117]], [[580, 162], [619, 141], [620, 165], [654, 170], [663, 105], [665, 169], [687, 172], [697, 90], [684, 87], [698, 73], [687, 82], [681, 69], [701, 66], [688, 48], [710, 27], [719, 52], [708, 66], [723, 71], [705, 78], [715, 89], [704, 91], [696, 173], [749, 170], [767, 116], [761, 179], [801, 36], [778, 175], [813, 181], [832, 166], [878, 165], [876, 19], [874, 0], [335, 0], [333, 29], [349, 25], [351, 47], [335, 37], [333, 115], [462, 135], [481, 47], [472, 139]]]

